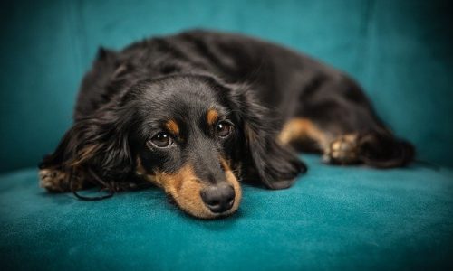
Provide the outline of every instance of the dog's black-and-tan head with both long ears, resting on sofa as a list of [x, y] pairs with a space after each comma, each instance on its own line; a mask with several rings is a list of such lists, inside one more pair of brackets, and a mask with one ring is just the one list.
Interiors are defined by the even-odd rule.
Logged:
[[138, 175], [189, 214], [216, 218], [237, 210], [239, 180], [282, 189], [305, 170], [271, 123], [244, 86], [169, 76], [140, 82], [77, 122], [59, 149], [65, 164], [91, 166], [107, 182]]

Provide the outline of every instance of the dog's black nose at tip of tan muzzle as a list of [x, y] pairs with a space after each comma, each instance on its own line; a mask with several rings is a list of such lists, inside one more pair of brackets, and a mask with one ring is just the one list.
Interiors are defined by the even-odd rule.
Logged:
[[235, 202], [235, 190], [227, 183], [212, 185], [200, 192], [201, 199], [212, 212], [230, 210]]

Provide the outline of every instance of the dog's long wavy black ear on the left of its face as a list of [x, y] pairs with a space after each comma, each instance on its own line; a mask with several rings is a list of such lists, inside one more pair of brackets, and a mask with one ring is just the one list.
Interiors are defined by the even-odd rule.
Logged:
[[103, 107], [92, 116], [77, 120], [55, 152], [44, 157], [40, 169], [56, 170], [66, 176], [75, 173], [77, 182], [101, 187], [112, 188], [112, 183], [127, 180], [134, 168], [127, 111], [116, 106]]

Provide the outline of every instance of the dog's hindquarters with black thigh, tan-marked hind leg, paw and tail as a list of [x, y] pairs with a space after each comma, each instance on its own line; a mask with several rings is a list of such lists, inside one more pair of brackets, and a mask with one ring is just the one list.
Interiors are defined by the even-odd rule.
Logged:
[[327, 164], [395, 167], [413, 159], [412, 145], [392, 135], [351, 80], [326, 81], [300, 100], [279, 136], [283, 144], [302, 144], [304, 150], [314, 143], [310, 150]]

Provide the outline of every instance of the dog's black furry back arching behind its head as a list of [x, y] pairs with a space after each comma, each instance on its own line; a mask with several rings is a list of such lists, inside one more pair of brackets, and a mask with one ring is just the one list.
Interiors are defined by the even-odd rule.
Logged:
[[[190, 31], [135, 42], [123, 51], [98, 51], [80, 89], [75, 119], [141, 80], [171, 74], [208, 74], [251, 86], [267, 107], [289, 112], [294, 96], [342, 73], [310, 57], [245, 35]], [[309, 89], [310, 90], [310, 89]], [[283, 110], [284, 108], [284, 110]]]

